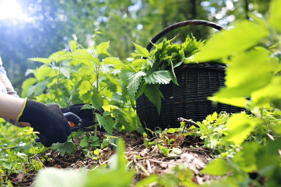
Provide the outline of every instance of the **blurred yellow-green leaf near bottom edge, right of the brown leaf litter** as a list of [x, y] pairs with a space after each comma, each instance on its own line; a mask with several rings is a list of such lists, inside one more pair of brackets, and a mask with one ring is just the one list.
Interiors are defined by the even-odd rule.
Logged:
[[209, 175], [224, 175], [228, 171], [231, 171], [229, 166], [226, 163], [225, 159], [219, 158], [216, 160], [211, 160], [206, 168], [201, 170], [202, 173]]

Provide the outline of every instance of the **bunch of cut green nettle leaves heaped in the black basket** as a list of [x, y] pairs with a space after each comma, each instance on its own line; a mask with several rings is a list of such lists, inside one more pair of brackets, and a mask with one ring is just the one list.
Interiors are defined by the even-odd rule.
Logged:
[[193, 36], [188, 36], [182, 44], [170, 43], [172, 40], [164, 38], [163, 42], [153, 44], [155, 49], [151, 52], [134, 43], [135, 56], [144, 58], [133, 60], [120, 73], [123, 101], [130, 100], [134, 109], [134, 101], [144, 93], [157, 107], [160, 115], [161, 98], [164, 99], [158, 89], [160, 84], [167, 84], [172, 80], [178, 85], [174, 68], [197, 53], [205, 41], [197, 41]]

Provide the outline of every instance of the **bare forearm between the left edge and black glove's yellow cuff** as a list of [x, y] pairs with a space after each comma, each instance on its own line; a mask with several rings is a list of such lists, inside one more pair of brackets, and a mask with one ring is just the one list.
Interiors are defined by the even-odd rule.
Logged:
[[0, 118], [16, 120], [22, 110], [23, 104], [23, 98], [0, 92]]

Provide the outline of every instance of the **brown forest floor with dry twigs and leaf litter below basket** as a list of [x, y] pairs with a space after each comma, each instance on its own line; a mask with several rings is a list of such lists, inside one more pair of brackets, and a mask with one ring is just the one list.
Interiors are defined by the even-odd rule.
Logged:
[[[102, 138], [106, 132], [99, 132], [98, 137]], [[131, 135], [131, 137], [130, 137]], [[174, 136], [176, 134], [171, 134]], [[200, 170], [206, 166], [206, 164], [211, 160], [210, 151], [203, 147], [203, 142], [200, 137], [186, 136], [182, 140], [180, 145], [180, 154], [169, 154], [164, 156], [164, 154], [159, 150], [158, 146], [152, 145], [151, 148], [146, 148], [143, 144], [144, 137], [133, 131], [130, 134], [126, 132], [114, 131], [113, 136], [123, 138], [126, 151], [124, 156], [131, 164], [129, 167], [134, 168], [136, 171], [134, 181], [137, 182], [150, 174], [165, 174], [172, 172], [173, 167], [181, 163], [189, 168], [194, 173], [192, 181], [199, 185], [203, 183], [210, 183], [214, 179], [214, 176], [206, 175], [200, 173]], [[176, 137], [176, 136], [174, 136]], [[155, 137], [157, 138], [157, 137]], [[73, 143], [78, 145], [80, 139], [74, 139]], [[193, 147], [193, 148], [191, 148]], [[197, 148], [196, 148], [197, 147]], [[102, 154], [103, 153], [103, 154]], [[110, 162], [110, 156], [115, 153], [115, 150], [110, 150], [110, 148], [100, 149], [100, 155], [102, 156], [96, 160], [91, 159], [84, 155], [83, 148], [77, 146], [75, 151], [69, 155], [68, 153], [61, 156], [60, 153], [53, 151], [52, 149], [47, 150], [43, 153], [40, 160], [44, 167], [55, 167], [61, 169], [81, 169], [87, 167], [88, 169], [98, 168], [102, 164], [107, 164]], [[43, 158], [43, 159], [42, 159]], [[44, 160], [44, 158], [50, 158]], [[36, 173], [30, 172], [30, 178], [34, 178]], [[10, 181], [19, 182], [23, 180], [28, 182], [26, 176], [22, 173], [10, 175]], [[34, 181], [29, 183], [21, 184], [21, 186], [32, 186]]]

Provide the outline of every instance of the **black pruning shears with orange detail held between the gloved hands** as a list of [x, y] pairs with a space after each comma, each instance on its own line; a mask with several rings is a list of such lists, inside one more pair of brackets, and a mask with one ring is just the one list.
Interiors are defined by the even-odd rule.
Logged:
[[74, 131], [78, 131], [78, 129], [82, 130], [82, 131], [91, 131], [93, 130], [93, 128], [84, 128], [84, 127], [90, 127], [93, 126], [94, 124], [96, 124], [96, 122], [94, 121], [87, 121], [84, 119], [81, 119], [78, 117], [78, 115], [72, 113], [72, 112], [67, 112], [64, 113], [65, 118], [67, 118], [67, 121], [69, 123], [69, 126], [72, 130], [72, 132]]

